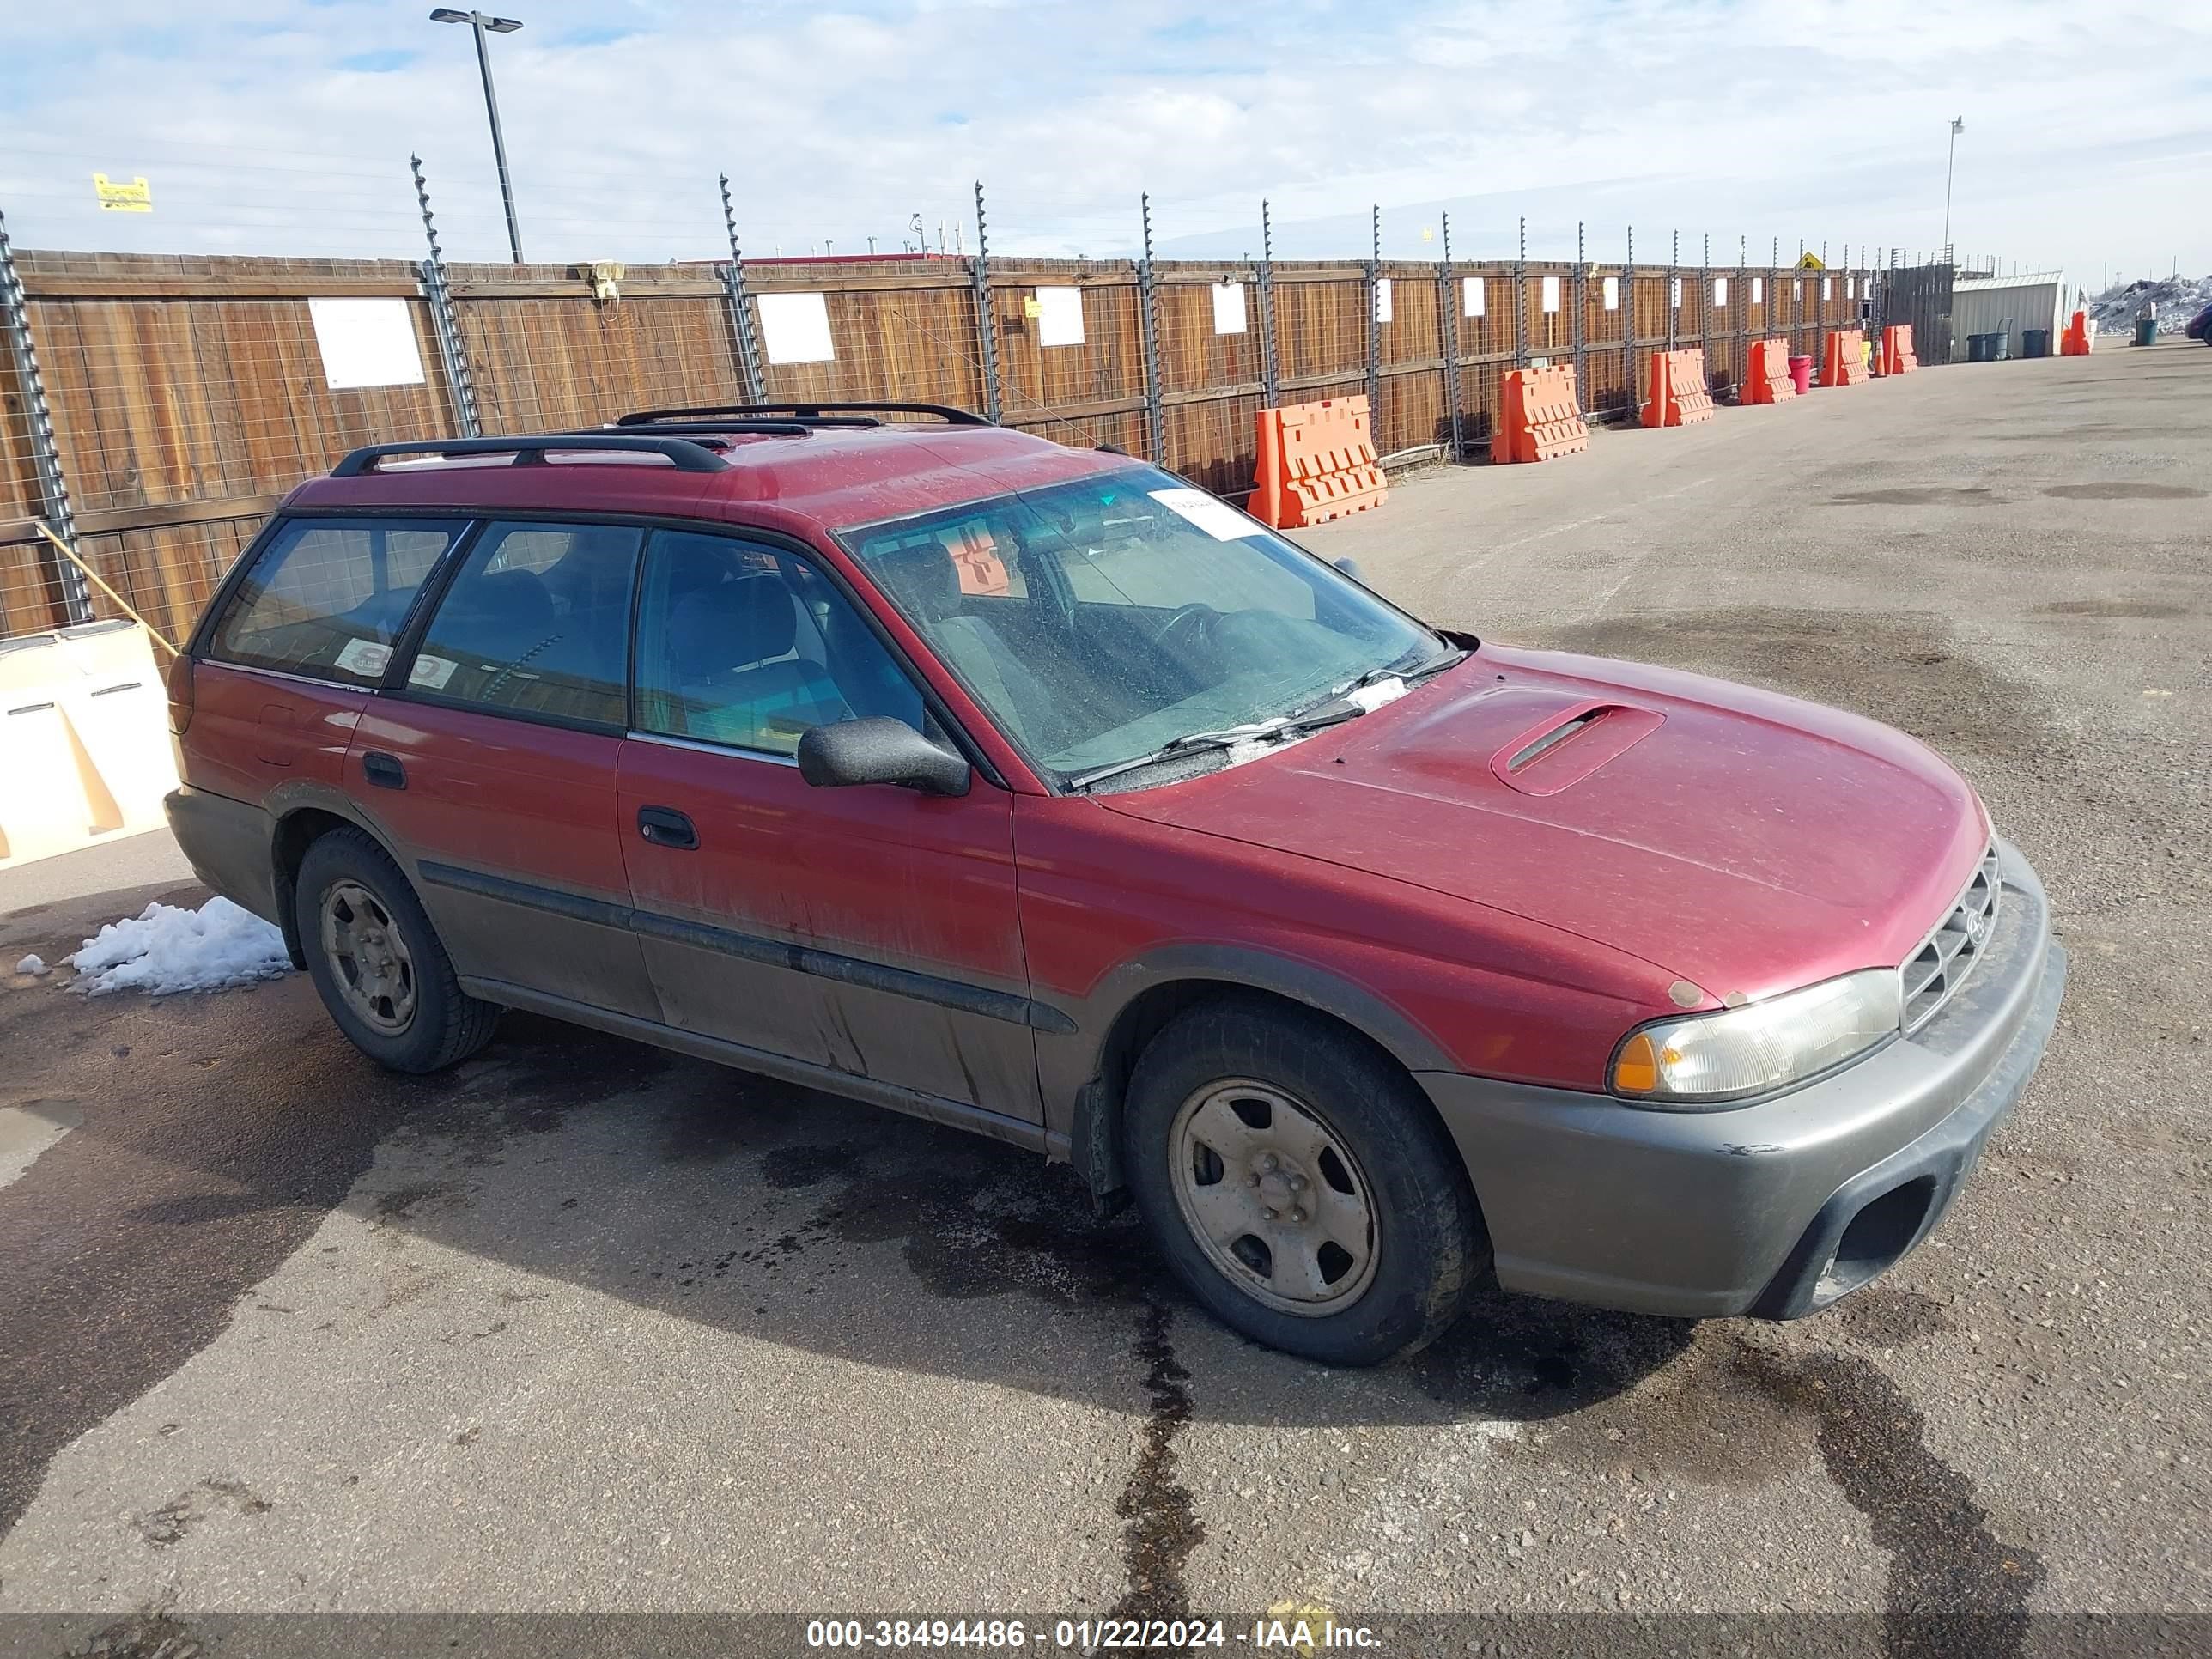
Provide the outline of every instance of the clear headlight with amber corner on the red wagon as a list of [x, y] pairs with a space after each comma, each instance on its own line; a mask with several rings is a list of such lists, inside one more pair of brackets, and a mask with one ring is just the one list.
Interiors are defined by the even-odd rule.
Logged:
[[1613, 1093], [1652, 1106], [1761, 1095], [1898, 1033], [1898, 971], [1867, 969], [1736, 1009], [1652, 1020], [1613, 1055]]

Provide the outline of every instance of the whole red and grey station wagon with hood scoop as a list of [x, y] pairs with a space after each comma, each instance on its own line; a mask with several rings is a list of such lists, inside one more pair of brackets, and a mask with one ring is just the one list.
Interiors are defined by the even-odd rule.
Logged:
[[1486, 1267], [1832, 1303], [1942, 1217], [2066, 975], [1913, 739], [1425, 628], [956, 409], [356, 451], [170, 706], [179, 843], [372, 1060], [533, 1009], [1029, 1146], [1334, 1363]]

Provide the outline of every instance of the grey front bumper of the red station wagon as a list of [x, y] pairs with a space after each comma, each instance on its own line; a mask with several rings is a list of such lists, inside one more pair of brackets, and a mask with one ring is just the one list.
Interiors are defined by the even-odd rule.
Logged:
[[2026, 1088], [2066, 951], [2000, 845], [2004, 902], [1911, 1037], [1750, 1106], [1668, 1113], [1420, 1073], [1467, 1159], [1506, 1290], [1641, 1314], [1796, 1318], [1918, 1245]]

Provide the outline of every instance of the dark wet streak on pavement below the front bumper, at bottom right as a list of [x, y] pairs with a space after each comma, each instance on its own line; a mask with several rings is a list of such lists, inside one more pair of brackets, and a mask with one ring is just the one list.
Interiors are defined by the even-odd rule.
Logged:
[[1734, 1369], [1812, 1418], [1829, 1480], [1889, 1551], [1889, 1659], [2011, 1659], [2026, 1650], [2042, 1557], [1991, 1533], [1973, 1482], [1927, 1449], [1927, 1418], [1896, 1383], [1860, 1358], [1792, 1356], [1743, 1338]]

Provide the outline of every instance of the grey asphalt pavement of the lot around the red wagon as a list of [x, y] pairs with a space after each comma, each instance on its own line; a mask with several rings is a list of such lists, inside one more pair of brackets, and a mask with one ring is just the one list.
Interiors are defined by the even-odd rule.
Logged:
[[[387, 1077], [301, 975], [0, 973], [0, 1613], [111, 1652], [248, 1613], [1825, 1613], [1891, 1655], [2212, 1613], [2208, 489], [2212, 352], [2170, 345], [1601, 431], [1303, 538], [1438, 624], [1898, 723], [2042, 872], [2042, 1073], [1936, 1239], [1796, 1325], [1489, 1290], [1325, 1371], [1009, 1148], [522, 1015]], [[0, 969], [197, 898], [155, 854], [0, 876]], [[1960, 1613], [1971, 1648], [1916, 1624]]]

